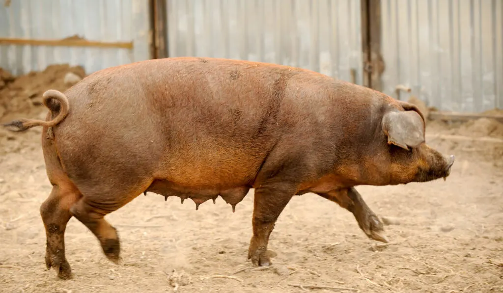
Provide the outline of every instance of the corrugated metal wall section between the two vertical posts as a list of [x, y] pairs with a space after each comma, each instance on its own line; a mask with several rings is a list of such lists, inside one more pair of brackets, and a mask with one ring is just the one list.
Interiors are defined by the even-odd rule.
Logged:
[[362, 82], [358, 0], [167, 0], [170, 57], [302, 67]]

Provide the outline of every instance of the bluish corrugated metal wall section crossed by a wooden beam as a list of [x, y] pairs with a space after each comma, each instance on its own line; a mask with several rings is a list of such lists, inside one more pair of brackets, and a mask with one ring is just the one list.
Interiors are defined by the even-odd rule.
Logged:
[[15, 0], [0, 4], [0, 37], [130, 42], [134, 49], [52, 46], [0, 46], [0, 67], [14, 74], [50, 64], [81, 65], [87, 73], [150, 58], [146, 0]]

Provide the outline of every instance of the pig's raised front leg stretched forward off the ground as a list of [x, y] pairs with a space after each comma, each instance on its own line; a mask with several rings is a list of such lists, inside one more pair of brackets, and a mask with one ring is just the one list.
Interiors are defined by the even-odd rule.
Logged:
[[319, 193], [319, 196], [336, 202], [341, 207], [353, 213], [358, 226], [360, 226], [369, 238], [388, 243], [388, 239], [384, 235], [382, 222], [367, 206], [360, 193], [354, 187]]

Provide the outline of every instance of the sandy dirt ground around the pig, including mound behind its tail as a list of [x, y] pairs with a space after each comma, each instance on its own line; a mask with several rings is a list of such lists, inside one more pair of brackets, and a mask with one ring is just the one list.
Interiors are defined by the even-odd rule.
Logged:
[[[43, 115], [30, 101], [51, 82], [64, 87], [61, 72], [46, 83], [26, 78], [16, 87], [12, 78], [0, 83], [0, 122]], [[0, 291], [503, 292], [503, 125], [431, 122], [427, 135], [431, 146], [456, 155], [447, 181], [357, 188], [376, 214], [394, 223], [385, 227], [389, 245], [369, 240], [338, 205], [304, 194], [293, 198], [271, 235], [274, 266], [233, 274], [250, 267], [253, 191], [235, 213], [220, 198], [196, 211], [191, 201], [164, 202], [147, 193], [107, 216], [121, 237], [120, 265], [105, 258], [85, 226], [70, 220], [65, 242], [73, 278], [64, 281], [44, 263], [39, 207], [51, 186], [40, 128], [0, 129]]]

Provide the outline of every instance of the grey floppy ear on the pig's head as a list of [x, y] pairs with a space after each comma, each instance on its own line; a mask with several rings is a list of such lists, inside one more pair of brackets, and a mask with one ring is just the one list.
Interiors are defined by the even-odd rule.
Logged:
[[382, 130], [388, 144], [408, 150], [425, 141], [423, 118], [416, 111], [388, 111], [382, 118]]

